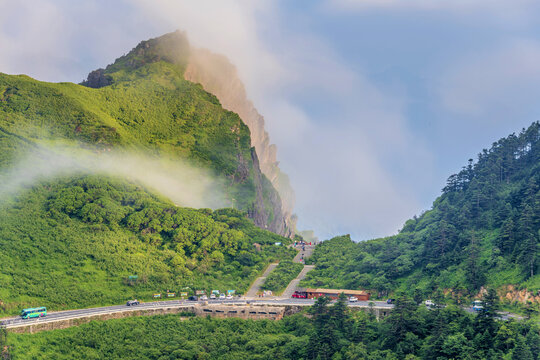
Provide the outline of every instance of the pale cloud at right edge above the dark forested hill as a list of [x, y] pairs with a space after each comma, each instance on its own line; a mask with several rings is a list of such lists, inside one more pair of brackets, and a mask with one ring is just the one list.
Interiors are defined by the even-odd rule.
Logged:
[[464, 56], [435, 86], [454, 112], [486, 120], [493, 111], [516, 113], [540, 93], [540, 42], [513, 39]]

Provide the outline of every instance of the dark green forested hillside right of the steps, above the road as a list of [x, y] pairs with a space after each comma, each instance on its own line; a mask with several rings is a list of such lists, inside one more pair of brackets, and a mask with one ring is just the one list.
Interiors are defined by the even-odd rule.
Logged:
[[[433, 208], [398, 235], [318, 246], [305, 285], [475, 294], [483, 285], [540, 289], [540, 124], [484, 149], [451, 175]], [[383, 214], [382, 214], [383, 215]]]

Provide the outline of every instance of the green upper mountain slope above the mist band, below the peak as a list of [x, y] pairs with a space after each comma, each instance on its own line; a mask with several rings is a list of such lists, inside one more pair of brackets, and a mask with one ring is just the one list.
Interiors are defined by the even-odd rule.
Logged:
[[[0, 166], [19, 147], [51, 142], [188, 159], [226, 180], [227, 201], [268, 227], [279, 195], [257, 166], [249, 129], [215, 96], [184, 80], [181, 61], [156, 55], [183, 41], [173, 33], [141, 43], [107, 67], [109, 85], [99, 89], [0, 74]], [[152, 55], [138, 55], [140, 48]]]

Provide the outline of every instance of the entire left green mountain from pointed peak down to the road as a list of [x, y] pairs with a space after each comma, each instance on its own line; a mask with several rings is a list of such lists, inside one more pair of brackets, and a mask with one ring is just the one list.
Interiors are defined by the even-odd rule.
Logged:
[[[249, 128], [184, 78], [188, 58], [172, 33], [82, 85], [0, 73], [0, 312], [182, 287], [242, 292], [270, 261], [292, 258], [274, 245], [290, 239], [266, 230], [290, 234]], [[183, 195], [215, 193], [234, 209], [165, 196], [189, 176], [216, 189]]]

